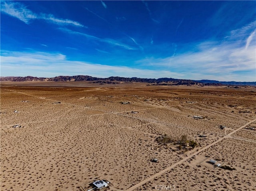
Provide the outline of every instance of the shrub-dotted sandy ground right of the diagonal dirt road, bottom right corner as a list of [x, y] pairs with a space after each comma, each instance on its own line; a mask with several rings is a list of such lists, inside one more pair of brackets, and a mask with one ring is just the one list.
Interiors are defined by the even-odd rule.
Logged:
[[[256, 142], [225, 139], [136, 190], [157, 190], [160, 185], [174, 186], [179, 191], [255, 190], [255, 148]], [[214, 167], [207, 163], [211, 158], [236, 170]]]

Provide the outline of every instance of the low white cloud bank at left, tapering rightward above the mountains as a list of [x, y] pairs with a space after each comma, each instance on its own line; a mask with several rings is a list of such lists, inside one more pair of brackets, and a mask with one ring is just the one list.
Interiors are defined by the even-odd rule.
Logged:
[[141, 77], [182, 78], [183, 74], [166, 70], [136, 69], [125, 66], [110, 66], [66, 59], [60, 53], [4, 52], [2, 51], [1, 76], [54, 77], [58, 75], [90, 75], [94, 77]]

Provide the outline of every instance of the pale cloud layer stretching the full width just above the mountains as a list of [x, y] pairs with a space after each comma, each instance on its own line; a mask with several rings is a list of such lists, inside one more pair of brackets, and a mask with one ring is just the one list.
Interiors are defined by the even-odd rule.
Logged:
[[[249, 46], [250, 47], [250, 46]], [[54, 77], [58, 75], [90, 75], [94, 77], [141, 77], [141, 78], [161, 78], [172, 77], [177, 79], [214, 79], [220, 81], [255, 81], [255, 66], [250, 63], [239, 63], [241, 56], [244, 56], [246, 51], [237, 50], [230, 54], [231, 63], [224, 63], [219, 65], [218, 62], [209, 63], [213, 61], [217, 53], [217, 49], [212, 50], [214, 55], [209, 52], [198, 53], [193, 55], [188, 53], [180, 57], [172, 58], [172, 63], [176, 67], [168, 69], [162, 68], [161, 65], [168, 65], [171, 58], [154, 59], [148, 58], [146, 62], [154, 62], [151, 69], [138, 69], [125, 66], [110, 66], [98, 63], [89, 63], [86, 61], [68, 60], [66, 55], [61, 53], [46, 53], [46, 52], [10, 52], [1, 51], [1, 76], [37, 76], [37, 77]], [[223, 49], [219, 49], [222, 51]], [[243, 49], [245, 50], [245, 49]], [[238, 54], [240, 53], [240, 54]], [[251, 55], [251, 53], [248, 53]], [[223, 54], [224, 55], [224, 54]], [[253, 58], [253, 55], [250, 59]], [[245, 56], [248, 58], [248, 56]], [[198, 59], [199, 58], [199, 59]], [[219, 59], [222, 61], [222, 59]], [[237, 62], [235, 65], [234, 62]], [[156, 65], [156, 67], [154, 67]], [[181, 68], [180, 66], [181, 65]], [[184, 69], [186, 67], [186, 69]], [[241, 76], [240, 73], [230, 72], [230, 68], [236, 67], [231, 71], [249, 70], [248, 75]], [[177, 70], [179, 69], [179, 70]], [[214, 70], [214, 71], [212, 71]], [[211, 72], [212, 71], [212, 72]]]

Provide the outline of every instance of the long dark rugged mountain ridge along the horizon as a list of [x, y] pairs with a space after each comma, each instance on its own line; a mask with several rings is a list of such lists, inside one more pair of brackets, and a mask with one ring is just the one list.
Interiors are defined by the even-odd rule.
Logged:
[[117, 82], [144, 82], [144, 83], [154, 83], [154, 85], [248, 85], [256, 86], [256, 82], [235, 82], [235, 81], [216, 81], [216, 80], [185, 80], [185, 79], [174, 79], [174, 78], [126, 78], [126, 77], [108, 77], [108, 78], [98, 78], [91, 77], [87, 75], [76, 75], [76, 76], [57, 76], [52, 78], [45, 77], [0, 77], [0, 81], [14, 81], [14, 82], [24, 82], [24, 81], [55, 81], [55, 82], [68, 82], [68, 81], [117, 81]]

